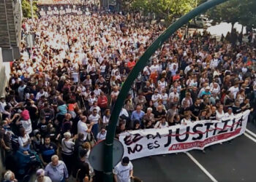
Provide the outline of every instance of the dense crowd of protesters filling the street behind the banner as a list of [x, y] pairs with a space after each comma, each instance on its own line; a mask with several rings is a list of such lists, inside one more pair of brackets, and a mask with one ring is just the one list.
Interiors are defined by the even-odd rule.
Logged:
[[[148, 25], [140, 14], [99, 11], [26, 19], [22, 30], [23, 40], [34, 33], [35, 46], [22, 41], [0, 100], [4, 178], [14, 181], [14, 174], [27, 175], [36, 166], [44, 168], [37, 181], [101, 181], [89, 164], [91, 146], [105, 139], [122, 85], [165, 27]], [[217, 41], [206, 31], [187, 37], [177, 31], [131, 85], [116, 138], [127, 130], [221, 120], [247, 109], [255, 122], [256, 47], [253, 39], [230, 37]], [[129, 181], [129, 158], [114, 174], [116, 181]]]

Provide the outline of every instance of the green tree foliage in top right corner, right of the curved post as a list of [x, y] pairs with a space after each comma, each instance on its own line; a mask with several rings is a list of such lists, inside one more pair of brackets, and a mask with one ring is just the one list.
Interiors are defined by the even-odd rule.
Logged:
[[236, 22], [249, 27], [256, 23], [255, 0], [230, 0], [208, 10], [207, 14], [214, 23], [227, 22], [234, 25]]

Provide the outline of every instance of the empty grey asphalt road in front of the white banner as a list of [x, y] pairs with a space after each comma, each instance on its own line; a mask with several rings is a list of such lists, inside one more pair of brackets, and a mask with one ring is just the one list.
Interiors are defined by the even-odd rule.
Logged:
[[[256, 133], [255, 124], [247, 128]], [[247, 132], [246, 132], [247, 133]], [[248, 134], [246, 134], [248, 135]], [[145, 182], [165, 181], [256, 181], [256, 138], [255, 141], [241, 135], [232, 143], [217, 144], [202, 151], [189, 151], [209, 175], [190, 159], [187, 154], [167, 154], [145, 157], [132, 161], [134, 175]]]

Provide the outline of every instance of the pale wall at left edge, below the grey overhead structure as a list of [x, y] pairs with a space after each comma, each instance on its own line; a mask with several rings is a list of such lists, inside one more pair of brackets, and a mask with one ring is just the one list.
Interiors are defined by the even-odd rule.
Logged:
[[4, 88], [8, 85], [10, 72], [10, 62], [3, 62], [0, 47], [0, 96], [5, 94]]

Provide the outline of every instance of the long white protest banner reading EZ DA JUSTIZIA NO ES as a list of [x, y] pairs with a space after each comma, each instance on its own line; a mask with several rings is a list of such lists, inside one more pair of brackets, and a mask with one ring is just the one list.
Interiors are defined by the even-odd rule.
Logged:
[[119, 135], [124, 156], [129, 159], [203, 150], [206, 146], [229, 141], [245, 132], [249, 110], [222, 121], [202, 120], [189, 125], [162, 129], [133, 130]]

